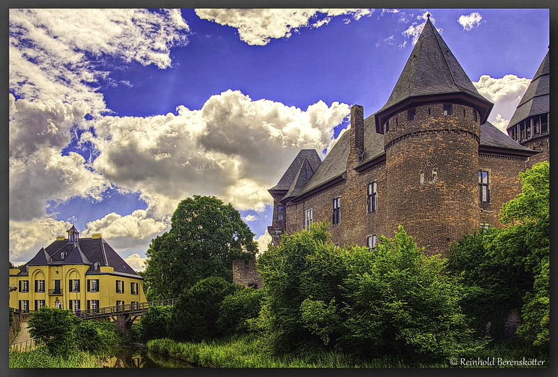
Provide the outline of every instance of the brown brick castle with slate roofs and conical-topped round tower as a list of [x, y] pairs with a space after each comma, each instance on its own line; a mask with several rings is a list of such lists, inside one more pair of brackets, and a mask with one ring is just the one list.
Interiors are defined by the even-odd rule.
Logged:
[[502, 204], [521, 191], [518, 173], [549, 159], [549, 72], [547, 54], [506, 135], [428, 18], [386, 105], [366, 119], [353, 105], [324, 161], [301, 150], [269, 189], [273, 243], [327, 221], [335, 244], [372, 248], [402, 225], [445, 256], [466, 233], [499, 226]]

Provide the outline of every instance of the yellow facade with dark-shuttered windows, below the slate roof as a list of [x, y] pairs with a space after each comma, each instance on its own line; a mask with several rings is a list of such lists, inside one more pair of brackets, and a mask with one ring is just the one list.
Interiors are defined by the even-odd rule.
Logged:
[[[75, 310], [77, 300], [80, 310], [86, 310], [88, 301], [89, 309], [93, 309], [93, 302], [103, 308], [146, 301], [142, 279], [114, 273], [114, 268], [108, 266], [100, 266], [98, 272], [85, 274], [88, 269], [89, 265], [31, 265], [28, 276], [17, 276], [20, 269], [10, 269], [10, 285], [17, 287], [17, 290], [10, 292], [10, 307], [35, 311], [44, 301], [45, 306]], [[70, 287], [70, 280], [73, 287]], [[98, 280], [98, 284], [92, 283], [92, 280]], [[27, 292], [24, 292], [24, 281], [27, 281]], [[75, 281], [79, 281], [79, 290], [75, 289]], [[116, 291], [116, 281], [123, 281], [119, 283], [119, 288], [123, 287], [123, 293]], [[137, 288], [136, 294], [133, 294], [132, 283]], [[98, 287], [96, 291], [95, 286]], [[27, 308], [24, 307], [26, 301]]]

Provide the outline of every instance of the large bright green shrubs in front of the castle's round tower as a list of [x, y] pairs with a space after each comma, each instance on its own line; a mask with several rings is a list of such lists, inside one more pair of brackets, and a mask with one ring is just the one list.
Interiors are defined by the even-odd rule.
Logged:
[[340, 249], [327, 226], [282, 237], [258, 260], [262, 323], [276, 353], [329, 346], [359, 355], [412, 360], [481, 348], [460, 307], [465, 288], [424, 256], [402, 227], [367, 248]]

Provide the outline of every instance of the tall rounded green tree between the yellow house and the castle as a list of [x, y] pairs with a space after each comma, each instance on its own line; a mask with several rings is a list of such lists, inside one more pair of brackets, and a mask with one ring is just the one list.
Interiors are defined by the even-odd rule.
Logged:
[[177, 297], [208, 276], [232, 281], [232, 260], [255, 258], [253, 237], [231, 204], [198, 195], [182, 200], [169, 232], [153, 239], [146, 252], [147, 297]]

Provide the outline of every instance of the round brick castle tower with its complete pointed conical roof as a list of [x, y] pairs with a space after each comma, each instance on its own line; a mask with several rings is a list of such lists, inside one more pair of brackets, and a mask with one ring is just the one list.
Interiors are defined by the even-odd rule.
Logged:
[[402, 225], [426, 253], [444, 255], [478, 229], [478, 145], [491, 108], [429, 17], [375, 114], [386, 151], [386, 229]]

